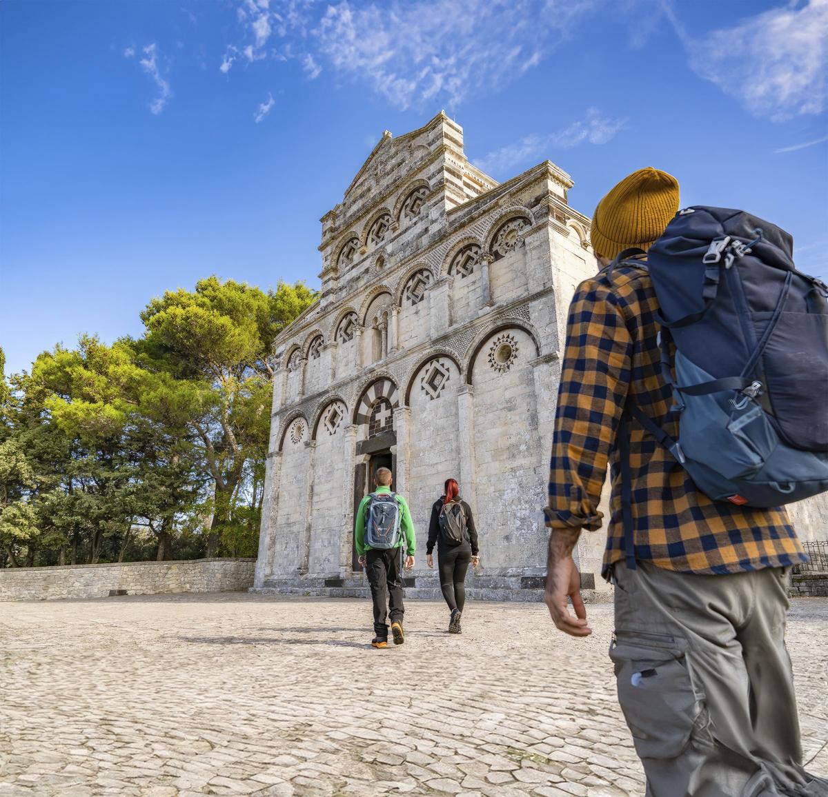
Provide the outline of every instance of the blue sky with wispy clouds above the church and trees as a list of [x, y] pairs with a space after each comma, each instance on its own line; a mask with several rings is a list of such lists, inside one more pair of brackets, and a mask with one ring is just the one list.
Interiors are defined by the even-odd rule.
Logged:
[[320, 216], [440, 108], [498, 180], [549, 158], [591, 214], [657, 166], [828, 276], [826, 36], [828, 0], [4, 0], [7, 372], [209, 274], [316, 285]]

